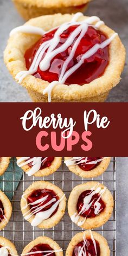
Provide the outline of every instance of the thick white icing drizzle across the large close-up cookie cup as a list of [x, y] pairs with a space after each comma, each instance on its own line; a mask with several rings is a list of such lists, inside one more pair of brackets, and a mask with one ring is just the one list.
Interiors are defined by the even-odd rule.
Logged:
[[[92, 26], [94, 28], [99, 28], [101, 25], [104, 24], [103, 21], [100, 21], [100, 18], [97, 16], [92, 16], [87, 18], [86, 20], [79, 21], [77, 22], [78, 18], [82, 17], [83, 14], [81, 12], [76, 13], [73, 17], [71, 22], [65, 22], [60, 27], [57, 27], [57, 30], [54, 34], [54, 37], [46, 42], [43, 42], [39, 49], [37, 50], [34, 60], [29, 68], [28, 71], [21, 71], [16, 75], [16, 80], [21, 84], [22, 80], [27, 76], [27, 75], [33, 75], [34, 73], [37, 72], [37, 68], [40, 67], [41, 71], [46, 71], [50, 67], [50, 62], [52, 61], [53, 57], [56, 56], [57, 54], [65, 51], [71, 44], [74, 42], [76, 37], [78, 37], [73, 45], [73, 48], [71, 50], [71, 53], [67, 57], [66, 61], [63, 63], [61, 74], [59, 76], [59, 81], [53, 81], [51, 82], [44, 90], [43, 94], [48, 94], [48, 101], [51, 101], [51, 93], [52, 89], [57, 85], [57, 84], [65, 84], [65, 81], [68, 79], [70, 75], [72, 75], [85, 61], [85, 59], [88, 59], [91, 57], [93, 54], [97, 52], [98, 49], [104, 49], [108, 44], [111, 43], [111, 41], [114, 39], [114, 37], [117, 36], [117, 33], [112, 34], [109, 39], [105, 40], [102, 43], [97, 43], [95, 44], [91, 49], [89, 49], [85, 54], [83, 54], [80, 57], [80, 60], [78, 63], [76, 63], [73, 67], [69, 68], [67, 70], [69, 62], [73, 59], [74, 54], [76, 49], [79, 46], [79, 43], [84, 37], [85, 33], [87, 32], [88, 26]], [[93, 25], [93, 23], [95, 25]], [[58, 43], [60, 42], [60, 36], [71, 25], [79, 25], [74, 29], [74, 31], [71, 33], [71, 35], [68, 36], [68, 39], [66, 40], [65, 43], [61, 44], [60, 47], [56, 48]], [[55, 28], [54, 28], [55, 29]], [[51, 31], [51, 30], [49, 30]], [[30, 25], [23, 25], [21, 27], [15, 28], [11, 31], [10, 35], [13, 35], [17, 32], [24, 32], [24, 33], [31, 33], [31, 34], [39, 34], [39, 35], [44, 35], [48, 33], [48, 31], [44, 31], [41, 28], [38, 27], [33, 27]], [[47, 50], [46, 55], [43, 57], [44, 52]]]

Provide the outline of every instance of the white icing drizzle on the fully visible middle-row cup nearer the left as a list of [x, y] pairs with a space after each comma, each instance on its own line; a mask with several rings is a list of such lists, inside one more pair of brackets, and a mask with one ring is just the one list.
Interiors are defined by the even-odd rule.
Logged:
[[[23, 214], [23, 217], [25, 220], [29, 220], [32, 216], [34, 216], [34, 219], [31, 222], [31, 226], [36, 227], [36, 226], [40, 225], [40, 223], [42, 221], [49, 219], [50, 215], [52, 215], [54, 213], [54, 211], [57, 208], [57, 206], [59, 205], [59, 203], [65, 197], [65, 194], [61, 197], [61, 199], [56, 201], [56, 199], [54, 197], [49, 202], [47, 202], [47, 203], [43, 204], [43, 206], [41, 206], [41, 204], [47, 200], [48, 195], [43, 197], [42, 199], [36, 200], [35, 202], [28, 204], [27, 200], [24, 198], [24, 195], [30, 194], [31, 192], [32, 191], [29, 191], [29, 193], [22, 195], [22, 199], [25, 201], [25, 204], [26, 204], [22, 209], [26, 209], [30, 205], [33, 206], [33, 207], [31, 207], [31, 209], [28, 210], [28, 212]], [[53, 202], [55, 202], [55, 203], [53, 204], [52, 207], [50, 207], [48, 210], [45, 210], [44, 212], [40, 212], [40, 210], [49, 206], [49, 204], [51, 204]], [[38, 204], [38, 206], [37, 206], [37, 204]]]

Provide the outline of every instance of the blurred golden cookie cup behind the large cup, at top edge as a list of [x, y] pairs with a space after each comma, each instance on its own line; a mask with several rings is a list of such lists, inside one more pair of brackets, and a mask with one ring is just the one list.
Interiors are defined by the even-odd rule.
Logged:
[[91, 0], [12, 0], [24, 20], [47, 14], [84, 12]]

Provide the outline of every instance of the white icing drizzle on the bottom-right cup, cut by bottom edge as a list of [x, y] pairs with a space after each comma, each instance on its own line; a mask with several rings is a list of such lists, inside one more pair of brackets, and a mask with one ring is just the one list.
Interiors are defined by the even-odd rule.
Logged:
[[[97, 256], [97, 245], [96, 245], [96, 242], [95, 242], [95, 240], [94, 240], [92, 231], [90, 230], [89, 232], [91, 233], [91, 239], [92, 239], [92, 241], [93, 241], [93, 245], [94, 245], [94, 249], [95, 249], [95, 255]], [[77, 250], [78, 250], [78, 256], [87, 256], [87, 254], [86, 254], [86, 245], [87, 245], [86, 234], [84, 234], [84, 236], [83, 236], [83, 241], [84, 241], [83, 246], [82, 246], [82, 247], [79, 246], [79, 247], [77, 248]], [[89, 256], [93, 256], [93, 255], [89, 254]]]

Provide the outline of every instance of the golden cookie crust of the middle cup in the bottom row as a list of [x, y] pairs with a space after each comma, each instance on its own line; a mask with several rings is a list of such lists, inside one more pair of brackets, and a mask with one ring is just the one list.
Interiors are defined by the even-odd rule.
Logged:
[[[51, 238], [48, 238], [47, 236], [39, 236], [35, 240], [29, 242], [27, 246], [24, 247], [22, 254], [28, 253], [33, 249], [34, 246], [39, 244], [47, 244], [51, 248], [53, 248], [54, 251], [61, 249], [60, 246]], [[22, 255], [21, 254], [21, 255]], [[62, 252], [55, 252], [56, 256], [63, 256]]]

